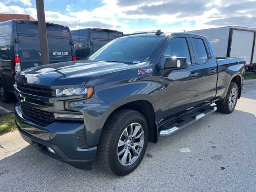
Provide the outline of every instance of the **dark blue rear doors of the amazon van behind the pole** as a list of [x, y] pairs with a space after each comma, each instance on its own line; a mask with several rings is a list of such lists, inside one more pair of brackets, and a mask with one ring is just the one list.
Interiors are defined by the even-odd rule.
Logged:
[[[46, 26], [50, 63], [72, 60], [68, 28]], [[37, 24], [16, 23], [21, 69], [42, 65]]]

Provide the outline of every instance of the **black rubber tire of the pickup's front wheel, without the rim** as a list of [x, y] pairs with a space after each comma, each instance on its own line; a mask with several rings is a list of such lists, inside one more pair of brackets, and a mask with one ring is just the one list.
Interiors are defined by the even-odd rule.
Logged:
[[[136, 160], [134, 161], [134, 163], [124, 166], [121, 164], [119, 160], [120, 156], [118, 156], [118, 143], [120, 142], [126, 128], [128, 128], [128, 126], [133, 123], [137, 123], [141, 125], [140, 127], [144, 131], [144, 144], [142, 148], [138, 149], [141, 151], [139, 156], [136, 157]], [[134, 129], [134, 132], [135, 132], [135, 129]], [[135, 143], [135, 139], [134, 139], [134, 143]], [[133, 144], [132, 140], [131, 140], [131, 144]], [[100, 164], [100, 166], [105, 170], [108, 170], [117, 176], [124, 176], [131, 173], [138, 167], [138, 165], [140, 164], [140, 162], [144, 157], [147, 145], [148, 145], [148, 124], [144, 116], [134, 110], [120, 109], [114, 112], [108, 118], [107, 122], [105, 123], [102, 129], [100, 141], [98, 144], [97, 161]], [[124, 146], [124, 148], [126, 148], [126, 145]], [[130, 153], [130, 155], [132, 158], [132, 152]]]

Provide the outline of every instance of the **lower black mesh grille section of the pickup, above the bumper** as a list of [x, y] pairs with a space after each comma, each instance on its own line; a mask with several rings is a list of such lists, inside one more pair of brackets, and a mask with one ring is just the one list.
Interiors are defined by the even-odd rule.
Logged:
[[55, 120], [54, 114], [52, 112], [32, 108], [26, 105], [20, 105], [24, 115], [29, 118], [29, 120], [40, 122], [41, 124], [47, 125]]

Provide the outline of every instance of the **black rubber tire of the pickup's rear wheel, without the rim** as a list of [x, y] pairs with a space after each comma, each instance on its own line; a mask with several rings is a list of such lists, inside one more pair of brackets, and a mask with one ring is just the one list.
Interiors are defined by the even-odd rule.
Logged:
[[[230, 104], [230, 94], [231, 94], [231, 92], [234, 88], [236, 89], [236, 99], [235, 99], [234, 106], [232, 106], [232, 108], [230, 108], [230, 106], [229, 106], [229, 104]], [[226, 113], [226, 114], [232, 113], [235, 110], [237, 99], [238, 99], [238, 86], [235, 82], [231, 82], [230, 85], [229, 85], [229, 88], [228, 88], [228, 92], [227, 92], [226, 97], [225, 97], [224, 104], [222, 104], [222, 102], [220, 102], [220, 103], [217, 102], [216, 103], [218, 111], [221, 112], [221, 113]]]

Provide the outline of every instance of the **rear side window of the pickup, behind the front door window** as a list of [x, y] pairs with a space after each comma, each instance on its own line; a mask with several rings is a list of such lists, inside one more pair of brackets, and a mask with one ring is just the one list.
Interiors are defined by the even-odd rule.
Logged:
[[204, 41], [202, 39], [198, 38], [192, 38], [193, 44], [196, 49], [197, 57], [198, 57], [198, 63], [204, 63], [206, 62], [209, 57], [204, 45]]

